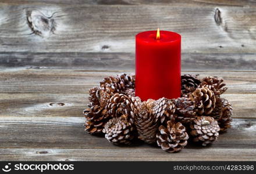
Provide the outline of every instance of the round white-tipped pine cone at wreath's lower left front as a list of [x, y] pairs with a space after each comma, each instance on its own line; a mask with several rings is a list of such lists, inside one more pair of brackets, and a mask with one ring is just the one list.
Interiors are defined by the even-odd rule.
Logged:
[[113, 144], [130, 144], [134, 138], [134, 126], [128, 121], [126, 115], [109, 119], [103, 132], [105, 138]]

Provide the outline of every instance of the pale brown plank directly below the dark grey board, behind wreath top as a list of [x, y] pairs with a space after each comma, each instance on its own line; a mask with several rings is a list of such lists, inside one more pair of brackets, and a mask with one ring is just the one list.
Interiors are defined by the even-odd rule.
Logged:
[[[39, 67], [40, 68], [40, 67]], [[0, 70], [0, 93], [88, 93], [104, 77], [116, 74], [134, 74], [134, 70], [56, 70], [47, 67], [20, 67]], [[200, 77], [218, 76], [225, 79], [227, 93], [255, 93], [255, 72], [183, 71], [183, 74], [200, 74]]]

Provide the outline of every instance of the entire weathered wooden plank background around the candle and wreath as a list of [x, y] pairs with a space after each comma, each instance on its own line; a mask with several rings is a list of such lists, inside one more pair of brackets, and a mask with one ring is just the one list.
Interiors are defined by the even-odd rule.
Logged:
[[[134, 35], [182, 35], [182, 73], [218, 75], [232, 129], [168, 154], [83, 131], [88, 89], [134, 73]], [[255, 0], [0, 0], [0, 160], [256, 160]]]

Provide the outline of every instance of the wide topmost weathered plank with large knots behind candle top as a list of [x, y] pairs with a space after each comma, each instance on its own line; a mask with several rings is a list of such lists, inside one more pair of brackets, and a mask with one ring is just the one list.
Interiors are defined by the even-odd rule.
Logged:
[[134, 53], [134, 36], [160, 27], [182, 34], [186, 53], [255, 53], [250, 6], [0, 6], [0, 52]]

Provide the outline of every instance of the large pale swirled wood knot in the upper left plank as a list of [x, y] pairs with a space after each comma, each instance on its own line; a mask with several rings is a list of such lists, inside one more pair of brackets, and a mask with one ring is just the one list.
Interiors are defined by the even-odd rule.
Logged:
[[52, 16], [45, 16], [38, 10], [27, 11], [27, 23], [34, 34], [49, 37], [56, 30], [56, 23]]

